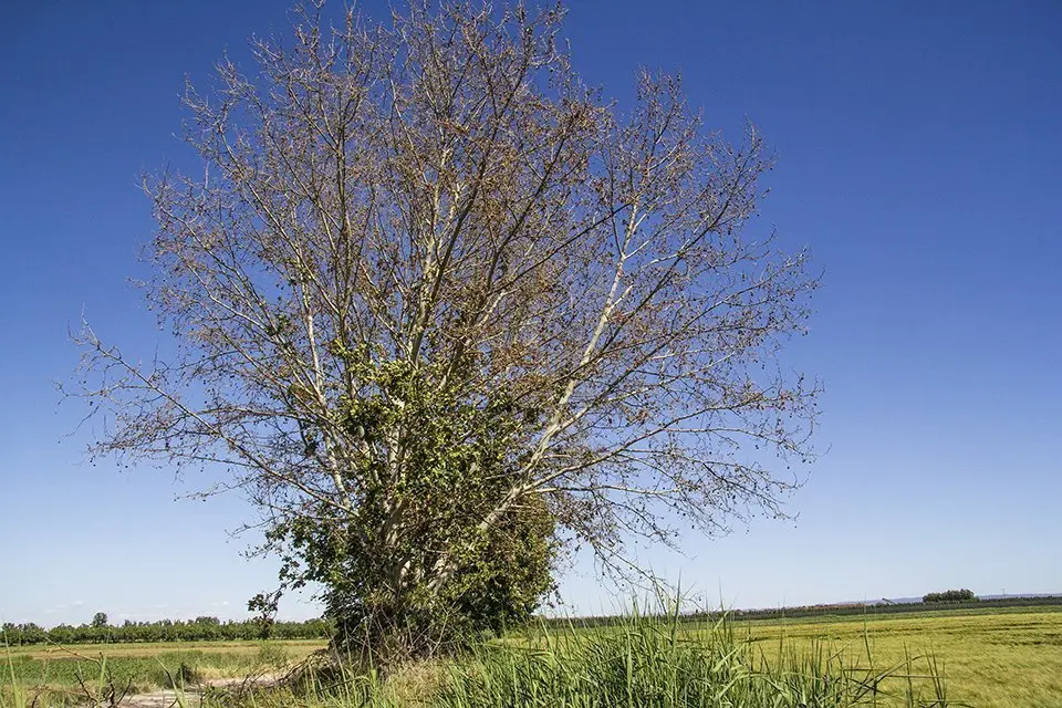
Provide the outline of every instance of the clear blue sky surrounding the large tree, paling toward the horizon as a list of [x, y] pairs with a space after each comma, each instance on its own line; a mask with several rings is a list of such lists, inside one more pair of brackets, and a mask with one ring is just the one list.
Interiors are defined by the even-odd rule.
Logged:
[[[711, 126], [779, 155], [757, 228], [825, 269], [789, 353], [822, 377], [829, 454], [790, 503], [642, 558], [741, 607], [970, 587], [1062, 592], [1062, 4], [572, 3], [576, 66], [621, 103], [638, 65], [680, 70]], [[385, 17], [383, 2], [364, 2]], [[274, 564], [230, 539], [239, 499], [83, 461], [53, 382], [84, 309], [156, 336], [139, 295], [138, 176], [187, 164], [184, 77], [287, 28], [287, 2], [29, 2], [0, 27], [0, 618], [244, 616]], [[736, 135], [736, 134], [735, 134]], [[563, 581], [611, 610], [592, 569]], [[313, 615], [305, 601], [283, 614]]]

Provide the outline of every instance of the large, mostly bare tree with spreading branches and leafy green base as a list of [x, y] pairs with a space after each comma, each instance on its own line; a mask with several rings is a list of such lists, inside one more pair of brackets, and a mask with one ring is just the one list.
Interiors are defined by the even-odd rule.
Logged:
[[85, 327], [95, 451], [226, 470], [350, 642], [423, 654], [525, 615], [561, 540], [779, 512], [815, 386], [778, 362], [815, 278], [751, 228], [771, 165], [676, 79], [624, 111], [562, 13], [295, 14], [189, 87], [198, 175], [147, 183], [139, 363]]

